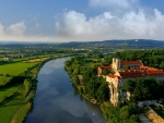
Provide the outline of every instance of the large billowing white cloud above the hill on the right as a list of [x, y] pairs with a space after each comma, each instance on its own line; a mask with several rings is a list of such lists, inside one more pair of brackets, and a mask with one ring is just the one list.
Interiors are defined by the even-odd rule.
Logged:
[[129, 11], [122, 16], [104, 12], [90, 19], [83, 13], [69, 11], [63, 14], [62, 24], [56, 23], [56, 28], [59, 36], [74, 40], [164, 39], [163, 23], [164, 15], [157, 9], [154, 9], [153, 13], [139, 9]]

